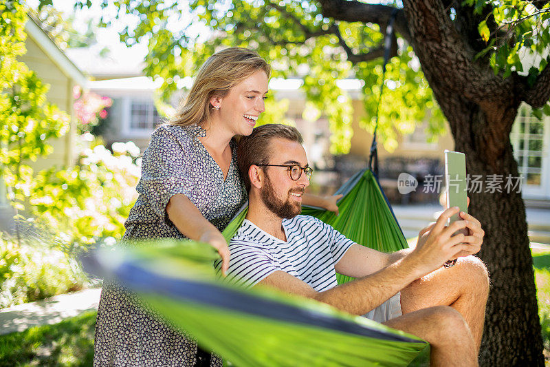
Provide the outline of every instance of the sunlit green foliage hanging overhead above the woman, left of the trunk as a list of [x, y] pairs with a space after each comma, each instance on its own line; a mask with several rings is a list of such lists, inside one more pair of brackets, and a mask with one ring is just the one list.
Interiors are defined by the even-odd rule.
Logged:
[[[76, 7], [86, 6], [84, 2]], [[115, 17], [105, 13], [104, 25], [131, 14], [139, 19], [120, 33], [126, 45], [147, 42], [144, 73], [161, 80], [159, 92], [167, 101], [178, 81], [194, 76], [199, 65], [221, 48], [252, 48], [273, 67], [273, 77], [301, 78], [307, 110], [327, 116], [333, 153], [346, 153], [353, 131], [353, 107], [347, 90], [336, 83], [345, 78], [363, 81], [366, 117], [361, 125], [372, 131], [380, 85], [381, 59], [352, 63], [340, 39], [362, 52], [382, 41], [380, 27], [372, 23], [333, 21], [322, 15], [314, 1], [115, 1]], [[396, 133], [410, 133], [431, 109], [428, 132], [443, 131], [444, 119], [419, 68], [410, 45], [395, 41], [395, 57], [388, 65], [380, 117], [385, 147], [396, 146]], [[391, 101], [391, 103], [388, 103]], [[276, 109], [268, 102], [265, 115]], [[273, 117], [268, 118], [273, 120]]]

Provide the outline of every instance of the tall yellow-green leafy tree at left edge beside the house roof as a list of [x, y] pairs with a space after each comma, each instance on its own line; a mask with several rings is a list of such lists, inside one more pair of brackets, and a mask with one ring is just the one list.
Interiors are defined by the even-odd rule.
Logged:
[[30, 196], [28, 164], [52, 151], [48, 140], [63, 136], [69, 116], [47, 103], [49, 87], [17, 58], [25, 54], [25, 8], [0, 3], [0, 173], [18, 209]]

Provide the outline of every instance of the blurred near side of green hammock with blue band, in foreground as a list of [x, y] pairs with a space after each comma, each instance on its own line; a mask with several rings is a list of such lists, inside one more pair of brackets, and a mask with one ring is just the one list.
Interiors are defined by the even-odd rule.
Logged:
[[113, 276], [173, 325], [234, 366], [406, 366], [423, 340], [364, 317], [214, 274], [207, 244], [165, 242], [96, 253], [92, 273]]

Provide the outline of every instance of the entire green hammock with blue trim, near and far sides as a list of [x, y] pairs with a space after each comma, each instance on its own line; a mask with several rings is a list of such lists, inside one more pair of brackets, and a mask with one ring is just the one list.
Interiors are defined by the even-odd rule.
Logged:
[[[320, 208], [303, 213], [331, 224], [348, 238], [380, 251], [407, 247], [391, 207], [370, 170], [358, 172], [337, 193], [340, 216]], [[243, 207], [223, 231], [241, 226]], [[114, 276], [160, 315], [188, 331], [201, 346], [234, 366], [417, 366], [430, 346], [413, 335], [325, 304], [266, 289], [242, 289], [214, 275], [212, 247], [170, 242], [98, 253], [92, 273]], [[340, 275], [339, 282], [350, 280]], [[411, 362], [412, 361], [412, 362]]]

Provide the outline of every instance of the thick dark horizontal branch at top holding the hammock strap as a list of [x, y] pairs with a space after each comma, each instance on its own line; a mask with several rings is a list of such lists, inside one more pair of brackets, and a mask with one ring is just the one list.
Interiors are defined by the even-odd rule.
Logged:
[[[331, 17], [337, 21], [358, 21], [384, 26], [388, 24], [391, 13], [395, 10], [393, 6], [367, 4], [355, 0], [319, 0], [319, 3], [322, 8], [321, 12], [325, 17]], [[403, 9], [397, 11], [394, 26], [401, 37], [406, 39], [408, 43], [412, 43]]]

